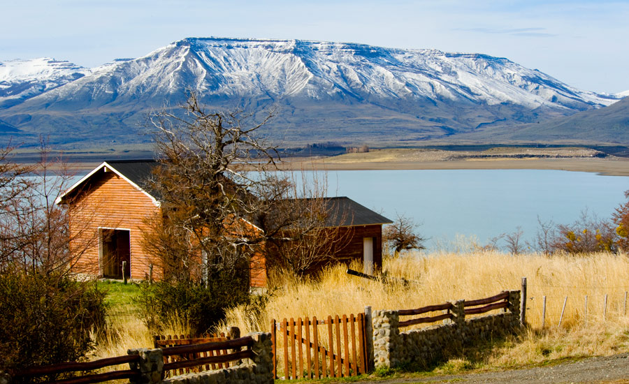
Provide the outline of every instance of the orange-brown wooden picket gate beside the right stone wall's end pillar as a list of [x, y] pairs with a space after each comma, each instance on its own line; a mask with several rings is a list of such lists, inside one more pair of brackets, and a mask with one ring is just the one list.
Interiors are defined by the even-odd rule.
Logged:
[[[327, 325], [323, 330], [327, 329], [327, 337], [321, 334], [319, 325]], [[280, 348], [284, 379], [358, 376], [367, 371], [365, 313], [328, 316], [326, 320], [317, 320], [315, 316], [312, 320], [284, 318], [273, 320], [271, 330], [275, 378]]]

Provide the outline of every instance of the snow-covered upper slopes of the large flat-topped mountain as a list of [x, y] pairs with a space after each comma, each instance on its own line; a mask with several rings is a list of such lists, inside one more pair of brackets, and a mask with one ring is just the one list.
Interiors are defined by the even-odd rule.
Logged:
[[35, 99], [53, 108], [55, 103], [87, 107], [87, 101], [118, 105], [139, 98], [164, 101], [183, 89], [219, 98], [509, 103], [568, 113], [618, 99], [580, 91], [540, 71], [483, 54], [229, 38], [180, 40], [145, 57], [94, 68]]

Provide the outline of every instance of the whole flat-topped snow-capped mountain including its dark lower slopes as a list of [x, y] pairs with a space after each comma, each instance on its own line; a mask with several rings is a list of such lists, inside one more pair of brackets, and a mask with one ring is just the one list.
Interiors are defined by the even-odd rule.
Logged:
[[[147, 112], [177, 105], [191, 89], [212, 107], [279, 106], [268, 132], [287, 142], [426, 140], [619, 99], [483, 54], [303, 40], [186, 38], [73, 75], [0, 110], [0, 119], [66, 140], [77, 130], [85, 140], [86, 129], [106, 140], [122, 133], [133, 140], [129, 130], [136, 135]], [[1, 79], [12, 84], [0, 73]]]

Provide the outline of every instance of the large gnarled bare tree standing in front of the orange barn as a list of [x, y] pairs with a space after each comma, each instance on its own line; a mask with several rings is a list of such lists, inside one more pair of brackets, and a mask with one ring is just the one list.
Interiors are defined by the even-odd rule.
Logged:
[[161, 226], [157, 237], [163, 239], [154, 243], [161, 251], [152, 251], [187, 268], [200, 265], [203, 257], [220, 269], [234, 269], [263, 239], [255, 219], [268, 206], [256, 193], [277, 182], [248, 172], [275, 165], [277, 152], [256, 135], [271, 115], [252, 123], [240, 111], [208, 112], [194, 93], [182, 110], [182, 115], [164, 111], [151, 119], [161, 166], [149, 187], [161, 200], [162, 216], [154, 223]]

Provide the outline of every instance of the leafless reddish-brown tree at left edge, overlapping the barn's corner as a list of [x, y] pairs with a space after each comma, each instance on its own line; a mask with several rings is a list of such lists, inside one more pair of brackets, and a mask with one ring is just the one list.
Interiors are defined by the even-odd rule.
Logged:
[[[44, 141], [40, 160], [33, 165], [11, 163], [6, 154], [0, 163], [0, 267], [10, 263], [29, 273], [59, 276], [78, 272], [73, 267], [96, 235], [86, 237], [78, 225], [71, 231], [69, 209], [55, 204], [73, 172], [60, 158], [50, 158]], [[78, 204], [73, 209], [85, 207]]]

